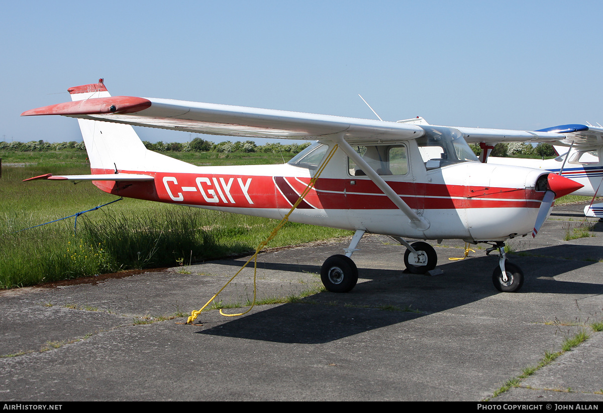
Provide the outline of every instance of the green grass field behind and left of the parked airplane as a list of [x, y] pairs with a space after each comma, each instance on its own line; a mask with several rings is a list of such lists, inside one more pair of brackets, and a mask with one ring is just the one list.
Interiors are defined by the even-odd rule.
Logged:
[[[174, 153], [169, 153], [174, 155]], [[280, 154], [182, 154], [198, 165], [282, 163]], [[197, 155], [197, 156], [195, 156]], [[289, 155], [291, 157], [291, 155]], [[77, 219], [34, 225], [89, 210], [118, 197], [91, 182], [22, 179], [43, 173], [90, 173], [81, 151], [0, 152], [0, 288], [77, 278], [122, 269], [173, 267], [252, 252], [277, 221], [185, 206], [123, 199]], [[288, 158], [285, 158], [288, 160]], [[7, 164], [22, 164], [7, 166]], [[24, 165], [23, 165], [24, 164]], [[22, 231], [24, 230], [24, 231]], [[288, 223], [271, 247], [349, 235], [349, 231]]]

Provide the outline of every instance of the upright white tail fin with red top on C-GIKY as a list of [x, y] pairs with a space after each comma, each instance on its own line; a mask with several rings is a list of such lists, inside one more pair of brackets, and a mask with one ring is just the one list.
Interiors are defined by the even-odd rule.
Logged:
[[[70, 87], [68, 92], [72, 101], [111, 96], [103, 79], [99, 79], [98, 83]], [[89, 119], [78, 119], [78, 122], [92, 173], [145, 170], [147, 148], [132, 126]]]

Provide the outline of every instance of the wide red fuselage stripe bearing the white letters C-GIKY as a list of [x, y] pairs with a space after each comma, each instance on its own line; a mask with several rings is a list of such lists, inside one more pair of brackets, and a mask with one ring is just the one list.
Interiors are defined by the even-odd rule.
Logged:
[[[119, 196], [159, 202], [233, 208], [290, 208], [310, 178], [240, 176], [197, 173], [144, 173], [146, 182], [95, 181], [102, 190]], [[92, 170], [92, 173], [114, 173]], [[544, 191], [533, 188], [467, 187], [464, 185], [388, 182], [416, 210], [459, 208], [538, 208]], [[305, 202], [307, 201], [307, 202]], [[301, 202], [301, 209], [396, 210], [397, 206], [373, 182], [364, 179], [321, 178]]]

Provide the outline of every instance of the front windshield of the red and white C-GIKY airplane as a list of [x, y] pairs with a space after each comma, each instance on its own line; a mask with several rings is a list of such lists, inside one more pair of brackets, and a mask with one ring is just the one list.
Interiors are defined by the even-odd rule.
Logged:
[[459, 162], [478, 161], [463, 134], [443, 126], [423, 126], [425, 135], [417, 138], [418, 149], [427, 169]]

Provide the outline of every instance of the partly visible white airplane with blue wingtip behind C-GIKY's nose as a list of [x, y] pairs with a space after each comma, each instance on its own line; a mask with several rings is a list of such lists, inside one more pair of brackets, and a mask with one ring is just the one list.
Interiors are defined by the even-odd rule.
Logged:
[[[538, 132], [559, 134], [554, 144], [557, 158], [531, 160], [487, 157], [488, 163], [526, 166], [549, 170], [582, 184], [573, 194], [596, 196], [603, 193], [603, 128], [593, 125], [560, 125]], [[563, 146], [561, 146], [563, 145]], [[482, 151], [484, 154], [484, 151]], [[485, 154], [487, 156], [487, 153]], [[603, 203], [592, 202], [584, 207], [584, 215], [603, 219]]]

